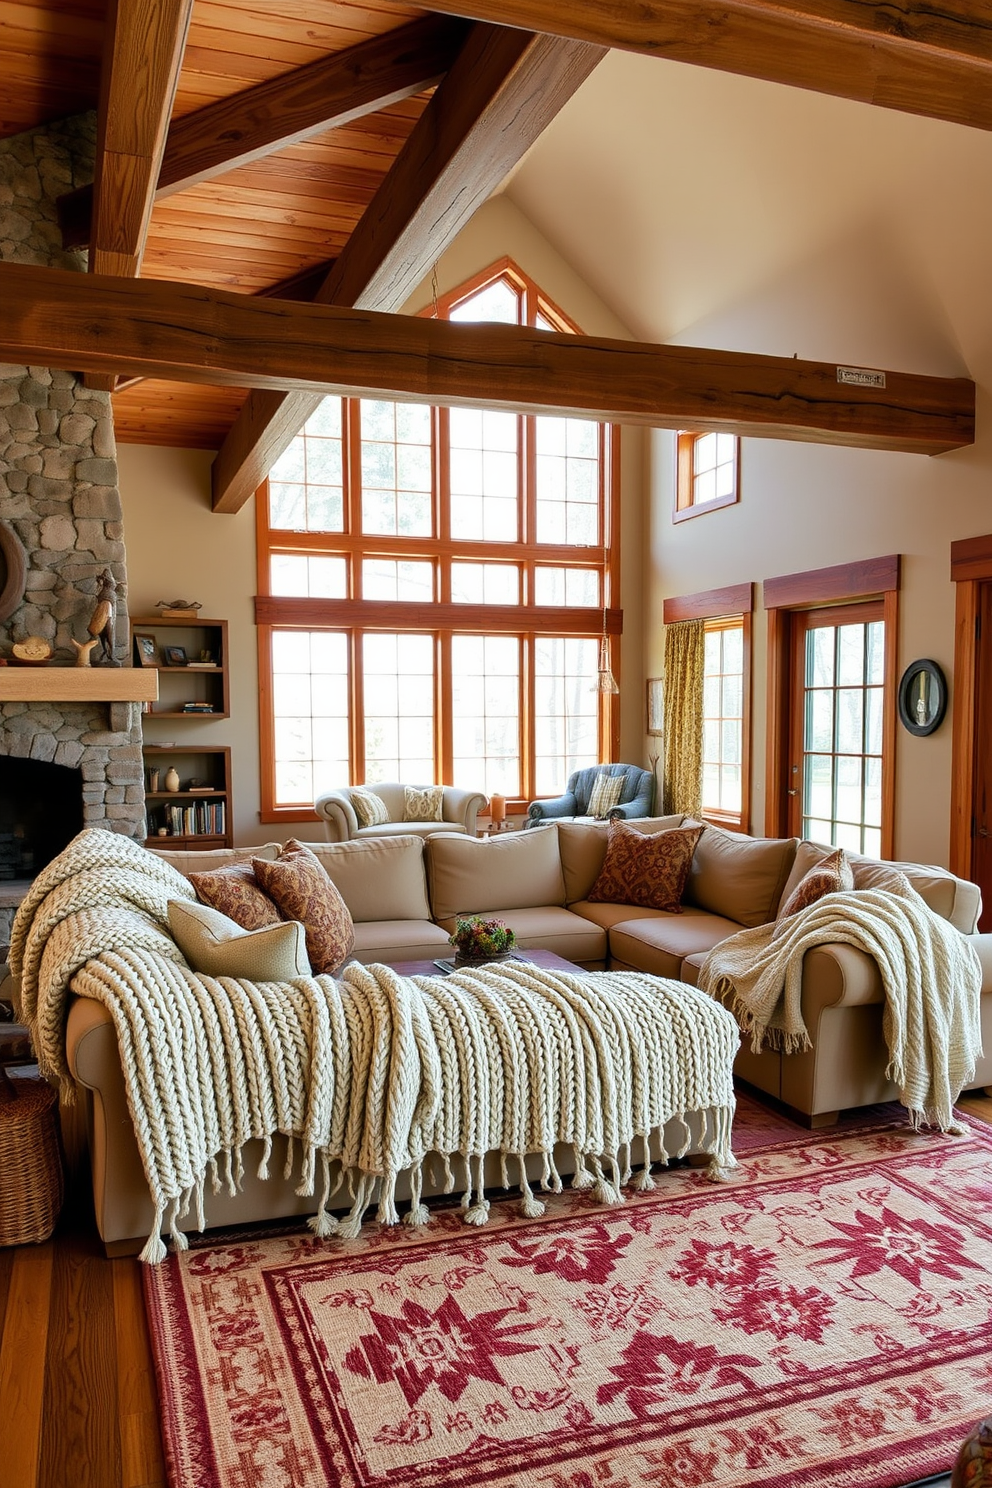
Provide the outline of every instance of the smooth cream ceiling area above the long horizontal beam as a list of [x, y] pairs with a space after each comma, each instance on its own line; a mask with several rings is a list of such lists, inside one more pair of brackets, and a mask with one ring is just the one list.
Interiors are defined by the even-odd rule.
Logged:
[[956, 375], [991, 186], [992, 134], [611, 52], [506, 190], [641, 339]]

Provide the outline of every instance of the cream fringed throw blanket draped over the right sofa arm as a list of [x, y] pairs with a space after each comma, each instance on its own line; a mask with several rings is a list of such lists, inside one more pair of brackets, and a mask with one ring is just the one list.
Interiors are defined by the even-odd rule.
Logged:
[[803, 957], [830, 942], [854, 945], [877, 963], [886, 1076], [913, 1125], [959, 1129], [953, 1103], [982, 1054], [982, 966], [968, 937], [909, 884], [825, 894], [787, 920], [741, 930], [709, 952], [699, 987], [735, 1012], [756, 1052], [809, 1049], [800, 1010]]

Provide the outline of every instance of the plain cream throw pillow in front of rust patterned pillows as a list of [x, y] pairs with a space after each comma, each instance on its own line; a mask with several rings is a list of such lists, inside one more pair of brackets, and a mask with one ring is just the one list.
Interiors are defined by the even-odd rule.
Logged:
[[241, 976], [250, 982], [292, 982], [309, 976], [306, 931], [299, 920], [242, 930], [210, 905], [170, 899], [173, 939], [201, 976]]

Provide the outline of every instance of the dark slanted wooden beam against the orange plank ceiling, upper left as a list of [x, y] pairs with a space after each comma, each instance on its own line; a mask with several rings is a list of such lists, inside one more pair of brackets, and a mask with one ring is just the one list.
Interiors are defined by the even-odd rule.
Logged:
[[[427, 15], [173, 121], [156, 199], [378, 113], [440, 82], [468, 22]], [[92, 187], [58, 201], [64, 247], [89, 241]]]

